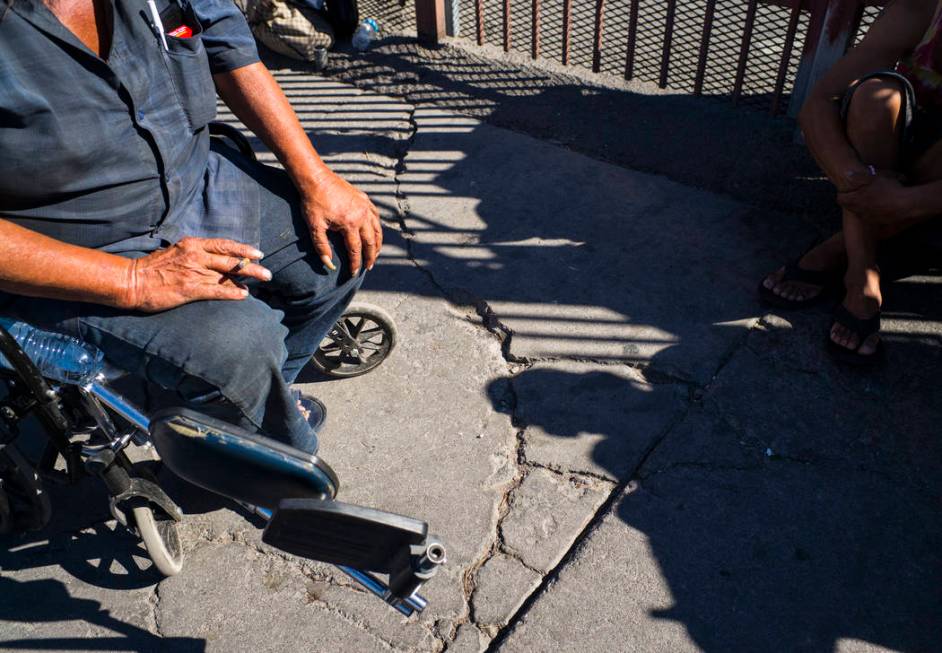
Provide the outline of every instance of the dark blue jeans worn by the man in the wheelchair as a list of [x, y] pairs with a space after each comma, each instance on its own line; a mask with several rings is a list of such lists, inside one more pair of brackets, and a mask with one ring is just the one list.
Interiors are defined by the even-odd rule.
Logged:
[[336, 234], [330, 238], [337, 269], [324, 268], [286, 173], [247, 160], [239, 165], [260, 185], [257, 245], [265, 254], [262, 264], [272, 272], [267, 283], [249, 283], [247, 299], [133, 313], [8, 295], [0, 310], [97, 346], [112, 365], [174, 393], [171, 401], [314, 453], [317, 434], [298, 410], [290, 385], [350, 303], [363, 274], [350, 276]]

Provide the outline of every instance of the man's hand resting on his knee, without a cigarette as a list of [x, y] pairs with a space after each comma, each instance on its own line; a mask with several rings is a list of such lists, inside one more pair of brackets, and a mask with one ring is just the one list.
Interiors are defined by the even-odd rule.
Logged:
[[350, 258], [350, 273], [356, 275], [361, 265], [373, 269], [383, 247], [383, 228], [379, 212], [366, 193], [339, 175], [326, 171], [315, 190], [302, 191], [302, 204], [311, 238], [324, 265], [334, 269], [327, 231], [343, 235]]

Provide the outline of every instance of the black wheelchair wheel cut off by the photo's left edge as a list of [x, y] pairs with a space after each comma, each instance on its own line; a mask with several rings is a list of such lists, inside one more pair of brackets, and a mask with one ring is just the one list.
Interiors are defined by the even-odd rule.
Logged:
[[52, 506], [36, 470], [12, 444], [0, 450], [0, 533], [37, 531]]

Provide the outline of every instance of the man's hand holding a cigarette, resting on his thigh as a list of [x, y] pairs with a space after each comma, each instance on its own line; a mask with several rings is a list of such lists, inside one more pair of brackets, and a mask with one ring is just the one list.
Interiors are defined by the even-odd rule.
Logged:
[[261, 257], [254, 247], [232, 240], [184, 238], [131, 262], [119, 305], [156, 313], [201, 299], [245, 299], [249, 291], [234, 277], [270, 281], [267, 269], [244, 263]]

